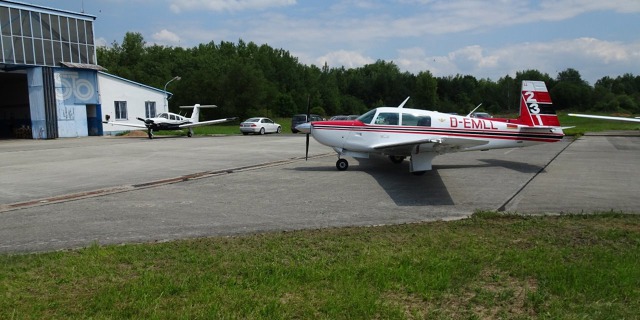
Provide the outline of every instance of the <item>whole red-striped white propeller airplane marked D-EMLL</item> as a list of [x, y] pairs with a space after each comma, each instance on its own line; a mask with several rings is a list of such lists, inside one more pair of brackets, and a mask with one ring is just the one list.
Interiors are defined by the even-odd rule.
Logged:
[[[431, 170], [437, 155], [473, 150], [526, 147], [562, 140], [564, 133], [551, 96], [542, 81], [523, 81], [517, 119], [472, 118], [436, 111], [403, 108], [370, 110], [356, 120], [313, 121], [297, 130], [311, 134], [338, 154], [336, 168], [347, 170], [343, 157], [389, 156], [394, 163], [410, 157], [410, 171]], [[309, 145], [307, 143], [307, 155]]]

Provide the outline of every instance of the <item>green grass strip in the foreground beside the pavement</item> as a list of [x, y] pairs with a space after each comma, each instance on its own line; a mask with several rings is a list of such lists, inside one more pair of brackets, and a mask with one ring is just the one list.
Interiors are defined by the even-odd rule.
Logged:
[[640, 216], [516, 216], [0, 256], [0, 319], [632, 319]]

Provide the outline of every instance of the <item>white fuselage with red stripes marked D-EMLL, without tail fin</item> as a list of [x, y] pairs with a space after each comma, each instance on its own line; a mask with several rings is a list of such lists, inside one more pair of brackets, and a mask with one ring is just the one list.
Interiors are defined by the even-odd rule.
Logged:
[[[425, 141], [423, 148], [433, 148], [441, 154], [454, 151], [472, 151], [497, 148], [513, 148], [562, 139], [562, 133], [548, 129], [521, 129], [509, 120], [469, 118], [419, 109], [377, 108], [360, 120], [318, 121], [311, 124], [311, 134], [320, 143], [336, 151], [381, 153], [409, 156], [410, 149], [381, 148], [387, 145], [411, 144]], [[368, 121], [369, 119], [370, 122]], [[365, 123], [361, 120], [364, 120]], [[443, 139], [464, 138], [477, 140], [480, 145], [438, 149], [434, 143]], [[424, 150], [426, 151], [426, 150]]]

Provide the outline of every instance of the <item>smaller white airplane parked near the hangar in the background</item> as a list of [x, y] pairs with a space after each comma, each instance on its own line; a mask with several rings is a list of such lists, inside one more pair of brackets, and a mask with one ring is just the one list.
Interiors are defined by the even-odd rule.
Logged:
[[189, 132], [187, 132], [187, 137], [191, 137], [193, 136], [194, 127], [208, 126], [212, 124], [218, 124], [218, 123], [233, 121], [237, 119], [237, 117], [234, 117], [234, 118], [224, 118], [224, 119], [218, 119], [218, 120], [199, 121], [201, 108], [217, 108], [217, 107], [218, 106], [216, 105], [199, 105], [199, 104], [196, 104], [193, 106], [180, 106], [180, 108], [183, 108], [183, 109], [193, 108], [193, 113], [191, 114], [190, 118], [186, 118], [179, 114], [175, 114], [171, 112], [163, 112], [153, 118], [146, 118], [146, 119], [140, 118], [140, 117], [136, 118], [144, 122], [144, 124], [109, 121], [109, 118], [107, 115], [107, 121], [103, 121], [102, 123], [107, 123], [112, 125], [117, 124], [120, 126], [135, 127], [135, 128], [146, 128], [149, 139], [153, 139], [153, 131], [180, 130], [185, 128], [189, 129]]

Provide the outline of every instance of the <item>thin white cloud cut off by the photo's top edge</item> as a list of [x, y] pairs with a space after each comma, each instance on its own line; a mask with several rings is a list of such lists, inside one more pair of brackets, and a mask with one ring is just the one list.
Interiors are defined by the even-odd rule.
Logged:
[[282, 7], [296, 4], [296, 0], [171, 0], [171, 11], [242, 11]]

